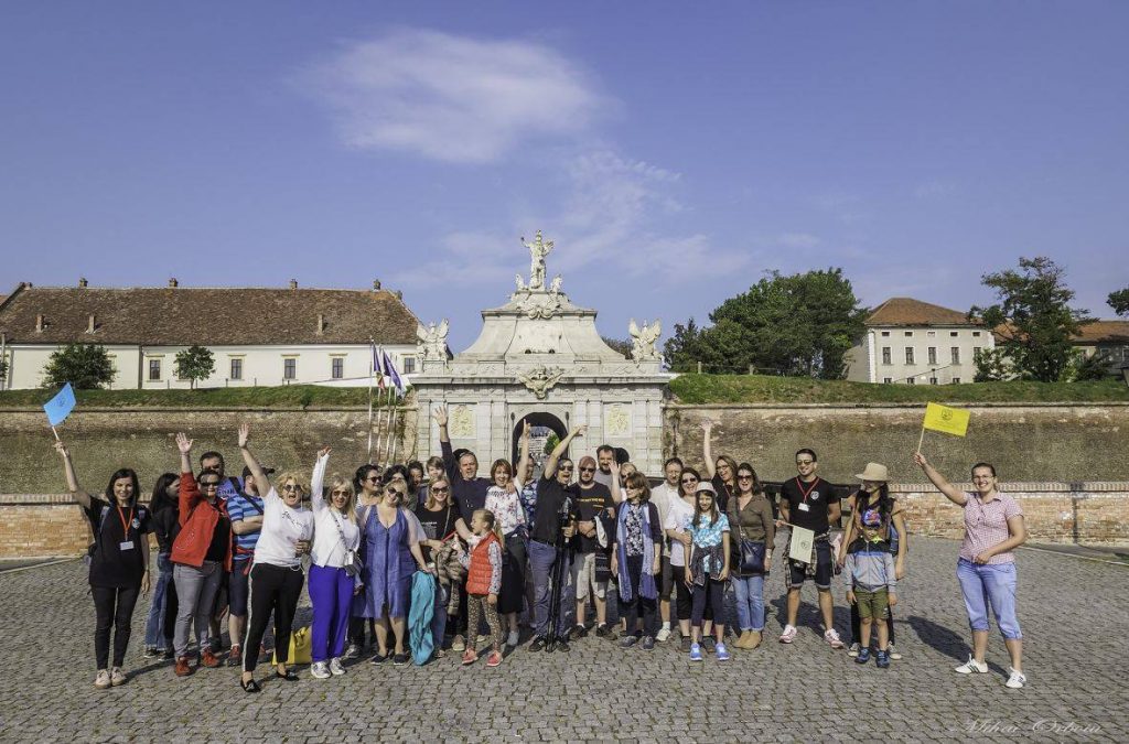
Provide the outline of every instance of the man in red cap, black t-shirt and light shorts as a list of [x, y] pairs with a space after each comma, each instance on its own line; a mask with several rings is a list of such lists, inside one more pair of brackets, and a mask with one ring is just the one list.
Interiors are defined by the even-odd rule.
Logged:
[[596, 459], [584, 456], [579, 463], [579, 481], [571, 485], [577, 508], [577, 535], [572, 539], [572, 585], [576, 587], [575, 638], [584, 638], [588, 630], [584, 624], [585, 604], [592, 594], [596, 607], [596, 634], [607, 636], [607, 579], [596, 577], [597, 561], [604, 562], [606, 574], [607, 550], [601, 548], [596, 539], [596, 519], [611, 517], [615, 504], [612, 492], [603, 483], [596, 482]]

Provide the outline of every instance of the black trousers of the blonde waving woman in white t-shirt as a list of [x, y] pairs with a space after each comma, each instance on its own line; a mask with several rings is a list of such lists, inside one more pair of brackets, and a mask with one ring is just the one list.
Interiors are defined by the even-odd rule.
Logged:
[[[247, 638], [243, 644], [243, 671], [254, 672], [266, 623], [274, 613], [274, 656], [278, 664], [290, 657], [290, 629], [305, 580], [301, 569], [255, 563], [247, 597]], [[248, 650], [252, 649], [252, 650]]]

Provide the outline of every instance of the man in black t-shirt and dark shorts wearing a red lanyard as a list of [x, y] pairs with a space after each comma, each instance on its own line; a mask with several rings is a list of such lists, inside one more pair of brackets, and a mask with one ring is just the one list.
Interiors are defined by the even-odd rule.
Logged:
[[815, 452], [800, 449], [796, 453], [796, 470], [799, 475], [786, 481], [780, 488], [780, 522], [794, 527], [803, 527], [815, 533], [812, 545], [812, 563], [787, 560], [785, 581], [788, 585], [788, 624], [780, 634], [781, 644], [796, 640], [796, 615], [799, 612], [799, 590], [814, 567], [815, 588], [820, 593], [820, 613], [823, 615], [823, 638], [831, 648], [842, 648], [834, 628], [833, 603], [831, 598], [831, 575], [834, 559], [828, 541], [831, 523], [839, 524], [839, 496], [834, 487], [815, 474], [819, 467]]

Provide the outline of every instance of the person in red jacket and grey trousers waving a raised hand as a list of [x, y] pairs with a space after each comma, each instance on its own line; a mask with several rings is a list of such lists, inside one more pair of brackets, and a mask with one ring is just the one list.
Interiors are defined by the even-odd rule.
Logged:
[[209, 621], [212, 604], [224, 571], [231, 570], [231, 520], [219, 499], [220, 474], [204, 470], [192, 476], [192, 440], [184, 434], [176, 435], [181, 450], [180, 523], [181, 534], [173, 542], [173, 583], [180, 611], [173, 645], [176, 650], [176, 675], [187, 676], [194, 671], [189, 665], [189, 627], [195, 620], [196, 645], [201, 664], [220, 665], [209, 648]]

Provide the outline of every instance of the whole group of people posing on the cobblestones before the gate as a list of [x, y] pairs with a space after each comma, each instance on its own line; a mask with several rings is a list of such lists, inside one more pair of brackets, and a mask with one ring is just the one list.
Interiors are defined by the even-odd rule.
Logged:
[[[474, 453], [453, 449], [446, 410], [437, 409], [434, 418], [441, 457], [385, 469], [364, 464], [351, 476], [326, 474], [329, 447], [317, 453], [308, 478], [298, 470], [274, 475], [252, 454], [246, 424], [237, 436], [242, 479], [226, 474], [216, 452], [201, 455], [194, 471], [193, 443], [178, 434], [180, 472], [158, 478], [148, 505], [129, 469], [111, 475], [102, 497], [82, 490], [67, 446], [56, 443], [68, 488], [94, 533], [87, 561], [97, 616], [95, 686], [126, 682], [131, 618], [152, 584], [150, 532], [159, 576], [145, 655], [174, 659], [178, 676], [221, 666], [219, 622], [226, 613], [226, 663], [239, 666], [246, 692], [261, 689], [255, 668], [272, 622], [274, 677], [298, 679], [289, 653], [304, 586], [313, 610], [316, 679], [345, 674], [345, 662], [366, 649], [373, 664], [421, 664], [449, 650], [473, 665], [484, 645], [485, 664], [496, 667], [519, 645], [523, 616], [532, 629], [530, 651], [568, 651], [570, 642], [594, 632], [644, 650], [681, 639], [690, 660], [712, 654], [725, 662], [729, 587], [737, 624], [732, 645], [751, 650], [762, 642], [764, 580], [781, 528], [809, 531], [813, 540], [806, 554], [789, 554], [798, 550], [795, 540], [779, 551], [787, 586], [780, 642], [797, 641], [800, 590], [811, 579], [824, 641], [832, 649], [846, 646], [833, 624], [831, 593], [841, 572], [851, 612], [848, 654], [859, 664], [873, 656], [879, 668], [901, 658], [891, 610], [905, 576], [909, 533], [885, 466], [869, 463], [858, 474], [861, 485], [846, 499], [851, 516], [840, 533], [843, 500], [817, 474], [811, 448], [796, 453], [797, 475], [774, 501], [751, 464], [714, 456], [709, 423], [704, 472], [672, 457], [663, 482], [651, 487], [623, 450], [607, 445], [574, 464], [566, 453], [585, 435], [583, 426], [560, 439], [535, 476], [526, 423], [517, 462], [495, 461], [489, 475], [480, 476]], [[1026, 537], [1022, 511], [998, 491], [987, 463], [972, 469], [974, 491], [964, 492], [920, 453], [913, 458], [964, 509], [957, 578], [973, 648], [956, 672], [988, 671], [990, 607], [1010, 656], [1007, 686], [1022, 688], [1012, 552]], [[607, 616], [613, 596], [615, 630]]]

